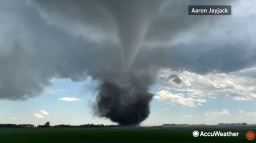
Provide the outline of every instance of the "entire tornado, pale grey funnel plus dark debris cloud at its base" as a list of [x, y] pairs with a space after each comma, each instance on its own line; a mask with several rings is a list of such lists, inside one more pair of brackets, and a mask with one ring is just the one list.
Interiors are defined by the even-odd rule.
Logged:
[[[104, 80], [99, 86], [94, 112], [119, 125], [139, 125], [150, 115], [153, 94], [148, 87], [153, 76], [131, 69], [148, 24], [157, 8], [156, 1], [98, 1], [115, 22], [121, 48], [120, 77]], [[118, 80], [121, 79], [121, 80]]]

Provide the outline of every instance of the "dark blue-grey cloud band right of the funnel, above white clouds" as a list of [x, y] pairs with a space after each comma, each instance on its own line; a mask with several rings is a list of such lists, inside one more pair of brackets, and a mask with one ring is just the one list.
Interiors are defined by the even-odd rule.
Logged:
[[137, 60], [143, 65], [135, 63], [134, 66], [143, 69], [154, 65], [156, 69], [172, 68], [176, 71], [187, 70], [199, 74], [207, 74], [215, 70], [229, 73], [255, 66], [256, 52], [248, 49], [247, 46], [248, 43], [228, 43], [220, 47], [177, 45], [172, 48], [145, 49], [137, 56]]

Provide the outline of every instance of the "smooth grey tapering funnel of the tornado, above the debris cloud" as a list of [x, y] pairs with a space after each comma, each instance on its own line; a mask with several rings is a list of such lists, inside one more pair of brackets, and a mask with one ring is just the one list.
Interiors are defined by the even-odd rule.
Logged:
[[115, 22], [120, 40], [122, 69], [129, 70], [146, 35], [147, 28], [159, 8], [159, 1], [103, 1], [98, 4], [105, 8]]

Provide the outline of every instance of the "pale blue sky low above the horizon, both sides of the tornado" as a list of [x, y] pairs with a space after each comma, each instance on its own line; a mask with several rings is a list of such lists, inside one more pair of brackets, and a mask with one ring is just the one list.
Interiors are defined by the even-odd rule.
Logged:
[[[53, 86], [49, 87], [44, 94], [39, 97], [28, 99], [27, 101], [7, 101], [1, 100], [0, 117], [2, 123], [14, 124], [34, 124], [41, 125], [49, 121], [52, 125], [57, 124], [108, 124], [115, 123], [109, 120], [93, 117], [91, 104], [95, 99], [94, 89], [97, 82], [88, 80], [86, 82], [72, 82], [68, 80], [55, 80]], [[60, 91], [60, 92], [58, 92]], [[159, 86], [154, 85], [152, 93], [157, 95]], [[183, 93], [185, 98], [189, 98], [186, 93], [180, 91], [170, 91], [172, 94]], [[77, 98], [79, 101], [59, 100], [65, 97]], [[206, 98], [207, 103], [202, 106], [188, 107], [177, 103], [165, 103], [153, 99], [151, 103], [150, 117], [141, 125], [152, 126], [161, 124], [218, 124], [230, 122], [254, 123], [253, 120], [244, 119], [244, 112], [254, 112], [254, 101], [236, 101], [229, 97]], [[228, 115], [222, 110], [226, 109]], [[49, 115], [40, 112], [44, 110]], [[212, 113], [213, 117], [205, 115]], [[37, 118], [34, 114], [40, 114], [44, 118]], [[15, 119], [14, 119], [15, 118]], [[241, 119], [240, 119], [241, 118]]]

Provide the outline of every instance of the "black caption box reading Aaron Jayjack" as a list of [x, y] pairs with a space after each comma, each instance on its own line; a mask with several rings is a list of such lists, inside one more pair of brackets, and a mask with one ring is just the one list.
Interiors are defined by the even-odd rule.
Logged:
[[188, 6], [188, 15], [231, 15], [231, 6]]

